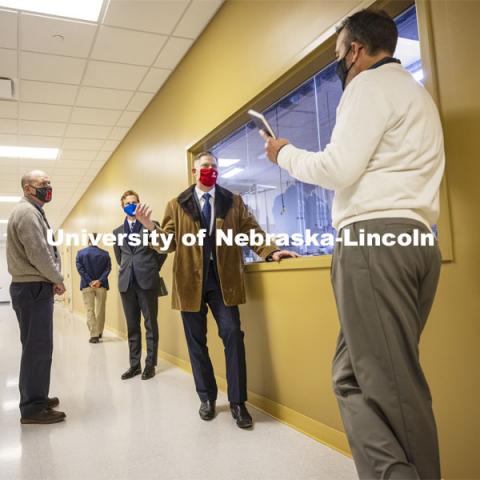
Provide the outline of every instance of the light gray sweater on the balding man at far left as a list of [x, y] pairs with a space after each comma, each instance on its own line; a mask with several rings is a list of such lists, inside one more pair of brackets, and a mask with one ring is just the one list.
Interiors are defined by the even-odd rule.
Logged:
[[13, 282], [62, 283], [60, 254], [47, 242], [43, 210], [27, 198], [13, 209], [7, 227], [7, 264]]

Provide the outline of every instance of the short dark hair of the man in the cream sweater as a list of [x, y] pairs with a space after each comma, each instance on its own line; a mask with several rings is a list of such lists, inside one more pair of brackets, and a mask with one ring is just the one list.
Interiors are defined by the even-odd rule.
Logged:
[[384, 10], [360, 10], [337, 27], [337, 34], [342, 30], [347, 32], [348, 44], [354, 41], [361, 43], [369, 55], [376, 55], [382, 50], [393, 55], [397, 47], [397, 26]]

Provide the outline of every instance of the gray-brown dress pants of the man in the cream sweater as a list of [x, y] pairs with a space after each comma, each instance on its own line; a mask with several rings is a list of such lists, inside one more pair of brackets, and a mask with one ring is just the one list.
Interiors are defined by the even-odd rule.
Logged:
[[[428, 233], [420, 222], [356, 222], [345, 239], [369, 233]], [[362, 479], [440, 479], [432, 398], [418, 344], [440, 273], [438, 246], [346, 246], [332, 261], [341, 331], [333, 388]]]

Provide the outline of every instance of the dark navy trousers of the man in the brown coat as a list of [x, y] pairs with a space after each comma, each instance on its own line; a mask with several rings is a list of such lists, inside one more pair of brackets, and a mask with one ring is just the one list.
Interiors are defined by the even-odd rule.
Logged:
[[232, 403], [243, 403], [247, 400], [247, 368], [240, 314], [237, 306], [227, 307], [223, 302], [212, 264], [203, 290], [200, 311], [181, 312], [198, 396], [202, 401], [216, 400], [218, 391], [207, 347], [208, 305], [225, 347], [228, 399]]

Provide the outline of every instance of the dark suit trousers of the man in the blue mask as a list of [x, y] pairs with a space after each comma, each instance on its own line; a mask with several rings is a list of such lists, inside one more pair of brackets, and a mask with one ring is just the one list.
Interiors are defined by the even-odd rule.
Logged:
[[154, 367], [157, 365], [158, 355], [158, 291], [156, 289], [144, 290], [136, 282], [132, 282], [128, 290], [121, 292], [120, 295], [127, 319], [130, 366], [137, 367], [140, 365], [142, 356], [140, 320], [143, 314], [147, 339], [145, 365]]

